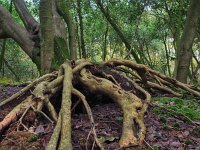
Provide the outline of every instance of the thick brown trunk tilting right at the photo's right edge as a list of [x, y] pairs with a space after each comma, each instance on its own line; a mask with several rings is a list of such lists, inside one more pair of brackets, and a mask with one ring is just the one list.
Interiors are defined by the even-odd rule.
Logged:
[[184, 32], [181, 37], [181, 42], [178, 49], [178, 58], [176, 60], [176, 79], [183, 83], [187, 83], [187, 78], [189, 75], [189, 67], [192, 60], [192, 45], [198, 27], [199, 15], [200, 1], [192, 0], [188, 11]]

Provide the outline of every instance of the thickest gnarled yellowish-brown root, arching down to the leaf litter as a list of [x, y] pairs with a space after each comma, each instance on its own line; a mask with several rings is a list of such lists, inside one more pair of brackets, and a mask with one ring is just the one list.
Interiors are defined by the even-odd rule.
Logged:
[[124, 119], [122, 135], [119, 141], [120, 147], [126, 147], [129, 144], [137, 145], [138, 141], [133, 131], [133, 119], [139, 119], [137, 109], [142, 107], [141, 100], [134, 94], [124, 91], [111, 81], [92, 75], [86, 69], [81, 70], [80, 81], [87, 86], [91, 92], [102, 92], [108, 95], [122, 109]]

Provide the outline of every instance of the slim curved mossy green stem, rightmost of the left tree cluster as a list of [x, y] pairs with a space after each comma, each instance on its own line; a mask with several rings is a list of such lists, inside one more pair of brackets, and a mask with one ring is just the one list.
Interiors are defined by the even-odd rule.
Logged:
[[63, 17], [67, 23], [69, 32], [69, 49], [71, 59], [77, 59], [77, 46], [76, 46], [76, 26], [73, 22], [72, 16], [69, 11], [70, 4], [66, 0], [57, 0], [58, 13]]

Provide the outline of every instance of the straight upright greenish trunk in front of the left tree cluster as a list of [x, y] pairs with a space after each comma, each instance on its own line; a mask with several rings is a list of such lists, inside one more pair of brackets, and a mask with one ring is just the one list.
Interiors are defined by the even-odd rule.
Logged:
[[40, 1], [40, 23], [41, 23], [41, 73], [51, 71], [54, 57], [54, 21], [52, 13], [53, 1]]

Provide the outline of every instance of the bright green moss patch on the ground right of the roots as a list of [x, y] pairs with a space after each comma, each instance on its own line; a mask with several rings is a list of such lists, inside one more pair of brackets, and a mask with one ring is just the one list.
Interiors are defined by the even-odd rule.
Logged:
[[[194, 100], [184, 100], [177, 97], [160, 97], [155, 98], [154, 101], [156, 101], [156, 103], [158, 103], [159, 105], [167, 106], [170, 109], [183, 113], [192, 120], [200, 120], [200, 108], [198, 103]], [[160, 114], [163, 113], [163, 110], [159, 108], [154, 108], [153, 112]], [[170, 115], [170, 112], [167, 113]]]

